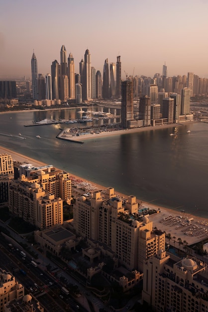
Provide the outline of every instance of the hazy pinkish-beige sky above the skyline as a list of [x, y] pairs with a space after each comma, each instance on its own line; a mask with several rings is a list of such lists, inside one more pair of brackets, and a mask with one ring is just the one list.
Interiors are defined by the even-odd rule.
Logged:
[[[0, 78], [31, 76], [60, 63], [64, 44], [75, 71], [86, 49], [103, 75], [121, 56], [121, 75], [188, 71], [208, 77], [208, 0], [0, 0]], [[125, 71], [125, 72], [124, 72]]]

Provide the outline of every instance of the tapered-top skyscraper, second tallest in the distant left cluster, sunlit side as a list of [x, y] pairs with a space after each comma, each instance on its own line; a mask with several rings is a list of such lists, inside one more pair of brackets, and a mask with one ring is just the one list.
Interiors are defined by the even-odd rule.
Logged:
[[85, 51], [83, 96], [84, 100], [92, 99], [91, 54], [88, 49]]

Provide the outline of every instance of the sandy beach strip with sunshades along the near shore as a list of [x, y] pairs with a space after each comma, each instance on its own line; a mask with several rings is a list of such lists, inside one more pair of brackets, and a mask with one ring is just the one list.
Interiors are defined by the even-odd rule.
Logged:
[[[24, 164], [31, 163], [37, 167], [49, 165], [49, 163], [46, 164], [37, 159], [24, 156], [22, 154], [10, 151], [3, 147], [0, 147], [0, 154], [10, 155], [12, 156], [14, 161]], [[70, 177], [72, 179], [73, 184], [76, 186], [76, 188], [74, 188], [75, 197], [78, 197], [81, 194], [83, 194], [83, 190], [81, 190], [81, 188], [85, 188], [85, 192], [93, 192], [94, 190], [104, 191], [106, 189], [106, 187], [100, 184], [91, 182], [83, 177], [74, 174], [70, 174]], [[113, 185], [109, 185], [109, 187], [113, 187]], [[116, 190], [115, 194], [116, 196], [125, 199], [127, 199], [127, 197], [130, 195], [134, 195], [134, 194], [122, 194], [116, 192]], [[144, 211], [146, 210], [146, 213], [148, 213], [148, 209], [155, 209], [158, 212], [147, 216], [149, 220], [153, 222], [153, 228], [156, 227], [158, 230], [165, 231], [166, 234], [171, 235], [172, 240], [170, 241], [170, 243], [172, 245], [173, 245], [173, 237], [176, 237], [175, 238], [176, 246], [178, 245], [177, 242], [178, 238], [181, 238], [182, 242], [186, 241], [188, 245], [192, 245], [202, 240], [208, 239], [208, 219], [188, 214], [184, 210], [176, 210], [177, 208], [180, 207], [177, 207], [175, 209], [164, 208], [158, 205], [154, 205], [151, 202], [141, 201], [139, 200], [139, 198], [137, 198], [137, 202], [140, 204], [139, 209], [140, 210], [143, 209]]]

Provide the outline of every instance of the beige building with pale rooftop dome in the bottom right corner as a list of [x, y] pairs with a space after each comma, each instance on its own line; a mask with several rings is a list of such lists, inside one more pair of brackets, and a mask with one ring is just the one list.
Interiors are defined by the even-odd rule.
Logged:
[[159, 250], [144, 261], [142, 301], [156, 312], [208, 312], [207, 264]]

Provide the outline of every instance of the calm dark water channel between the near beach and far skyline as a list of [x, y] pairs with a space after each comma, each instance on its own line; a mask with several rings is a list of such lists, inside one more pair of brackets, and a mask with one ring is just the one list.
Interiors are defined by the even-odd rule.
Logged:
[[77, 119], [78, 110], [0, 114], [0, 146], [141, 200], [208, 218], [208, 124], [178, 126], [177, 136], [170, 136], [174, 127], [157, 128], [84, 144], [56, 139], [60, 128], [77, 124], [24, 127], [37, 119]]

